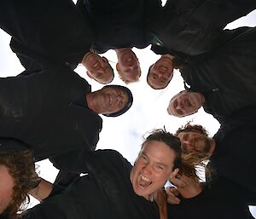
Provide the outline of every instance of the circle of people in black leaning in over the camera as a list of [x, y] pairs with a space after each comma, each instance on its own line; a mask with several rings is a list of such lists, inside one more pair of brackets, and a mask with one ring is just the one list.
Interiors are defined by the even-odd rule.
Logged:
[[[224, 30], [253, 9], [254, 0], [3, 0], [0, 27], [25, 71], [0, 79], [0, 218], [253, 218], [256, 29]], [[152, 89], [165, 89], [173, 69], [183, 77], [167, 112], [203, 107], [221, 126], [212, 138], [200, 124], [152, 130], [131, 165], [96, 150], [99, 114], [118, 117], [133, 101], [126, 86], [109, 85], [101, 54], [114, 49], [128, 85], [142, 73], [132, 48], [148, 45], [160, 55], [148, 69]], [[92, 92], [73, 72], [79, 63], [107, 85]], [[35, 169], [45, 158], [60, 170], [54, 183]], [[28, 194], [40, 204], [24, 210]]]

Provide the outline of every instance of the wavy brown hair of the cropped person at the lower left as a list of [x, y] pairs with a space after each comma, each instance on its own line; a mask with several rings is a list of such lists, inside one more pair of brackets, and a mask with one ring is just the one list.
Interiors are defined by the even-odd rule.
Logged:
[[9, 174], [15, 182], [12, 201], [0, 218], [14, 219], [18, 217], [17, 211], [22, 210], [22, 204], [29, 203], [28, 192], [38, 186], [40, 179], [35, 171], [31, 151], [0, 152], [0, 164], [9, 169]]

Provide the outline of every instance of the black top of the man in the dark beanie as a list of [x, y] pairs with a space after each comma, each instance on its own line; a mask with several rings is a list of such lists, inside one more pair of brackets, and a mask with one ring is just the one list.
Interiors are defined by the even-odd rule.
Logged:
[[86, 107], [89, 92], [90, 84], [68, 66], [1, 78], [0, 136], [24, 141], [36, 161], [72, 150], [94, 150], [102, 118]]

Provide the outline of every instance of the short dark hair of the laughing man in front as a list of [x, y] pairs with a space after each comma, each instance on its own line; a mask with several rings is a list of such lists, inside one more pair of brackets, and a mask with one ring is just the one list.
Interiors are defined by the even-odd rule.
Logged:
[[181, 143], [178, 137], [172, 135], [170, 132], [167, 132], [165, 129], [158, 129], [158, 130], [152, 130], [151, 132], [149, 132], [149, 135], [143, 141], [143, 146], [145, 146], [149, 141], [164, 142], [175, 153], [173, 169], [181, 167], [182, 149], [181, 149]]

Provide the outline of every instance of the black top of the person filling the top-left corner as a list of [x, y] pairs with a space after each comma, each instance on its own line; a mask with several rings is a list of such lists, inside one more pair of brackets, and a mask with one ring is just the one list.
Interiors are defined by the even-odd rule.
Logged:
[[75, 68], [94, 39], [90, 23], [70, 0], [3, 0], [0, 27], [12, 36], [11, 48], [21, 64], [32, 71], [42, 69], [42, 60]]

